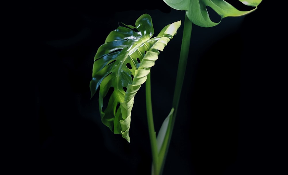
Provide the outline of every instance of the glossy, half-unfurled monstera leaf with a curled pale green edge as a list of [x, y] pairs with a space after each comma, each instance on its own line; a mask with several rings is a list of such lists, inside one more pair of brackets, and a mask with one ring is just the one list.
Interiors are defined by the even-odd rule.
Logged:
[[[123, 25], [112, 31], [98, 48], [90, 90], [92, 97], [100, 86], [99, 110], [102, 122], [130, 142], [128, 132], [134, 96], [158, 59], [158, 50], [163, 51], [176, 34], [181, 21], [167, 25], [154, 38], [151, 38], [154, 29], [148, 14], [140, 16], [135, 26]], [[113, 92], [109, 94], [111, 89]], [[110, 95], [109, 101], [103, 109], [106, 95]]]

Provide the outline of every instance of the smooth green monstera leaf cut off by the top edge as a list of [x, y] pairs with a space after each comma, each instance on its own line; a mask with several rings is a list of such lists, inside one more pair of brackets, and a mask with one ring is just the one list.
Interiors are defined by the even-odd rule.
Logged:
[[245, 5], [255, 7], [250, 11], [239, 11], [224, 0], [163, 0], [167, 5], [176, 10], [186, 10], [190, 21], [201, 27], [213, 27], [220, 22], [213, 22], [209, 18], [207, 6], [211, 7], [221, 19], [228, 16], [242, 16], [257, 9], [262, 0], [238, 0]]

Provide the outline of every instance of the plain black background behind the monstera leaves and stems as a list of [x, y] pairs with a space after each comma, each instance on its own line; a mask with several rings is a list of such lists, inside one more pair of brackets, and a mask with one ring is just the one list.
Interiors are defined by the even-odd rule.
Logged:
[[[164, 175], [284, 174], [287, 64], [279, 52], [282, 29], [267, 22], [271, 16], [265, 3], [212, 28], [193, 26]], [[151, 69], [158, 131], [171, 108], [184, 12], [162, 1], [42, 3], [14, 10], [17, 20], [9, 22], [16, 24], [12, 35], [19, 37], [10, 42], [20, 68], [13, 71], [17, 96], [9, 103], [20, 119], [9, 132], [16, 137], [8, 136], [16, 141], [8, 151], [12, 170], [150, 174], [145, 88], [135, 96], [127, 143], [101, 123], [98, 94], [90, 99], [93, 58], [118, 22], [134, 25], [147, 13], [156, 36], [167, 24], [182, 20]]]

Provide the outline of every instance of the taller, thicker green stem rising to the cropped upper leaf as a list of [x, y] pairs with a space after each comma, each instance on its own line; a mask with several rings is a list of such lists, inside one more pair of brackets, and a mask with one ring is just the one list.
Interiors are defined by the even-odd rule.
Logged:
[[178, 63], [178, 70], [177, 70], [177, 76], [176, 76], [176, 83], [175, 83], [175, 90], [174, 90], [174, 97], [173, 97], [173, 103], [172, 107], [175, 109], [172, 118], [169, 120], [167, 133], [165, 135], [165, 139], [167, 139], [167, 142], [163, 144], [160, 153], [159, 153], [159, 161], [160, 161], [160, 175], [163, 172], [165, 160], [168, 153], [168, 147], [170, 145], [171, 136], [173, 132], [173, 127], [175, 124], [175, 119], [177, 115], [177, 109], [179, 106], [180, 96], [181, 96], [181, 90], [182, 85], [184, 81], [184, 75], [187, 65], [187, 58], [189, 54], [189, 48], [190, 48], [190, 39], [191, 39], [191, 32], [192, 32], [192, 22], [187, 18], [185, 14], [185, 20], [184, 20], [184, 27], [183, 27], [183, 37], [182, 37], [182, 44], [181, 44], [181, 50], [180, 50], [180, 58]]

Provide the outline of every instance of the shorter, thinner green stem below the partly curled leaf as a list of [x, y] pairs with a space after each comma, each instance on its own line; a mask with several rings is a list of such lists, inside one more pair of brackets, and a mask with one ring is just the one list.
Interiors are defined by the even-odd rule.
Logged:
[[[150, 72], [151, 73], [151, 72]], [[158, 164], [158, 150], [156, 143], [156, 132], [154, 129], [153, 113], [152, 113], [152, 100], [151, 100], [151, 75], [147, 75], [147, 80], [145, 82], [146, 89], [146, 111], [147, 111], [147, 120], [148, 120], [148, 130], [151, 143], [151, 152], [152, 152], [152, 161], [153, 168], [152, 171], [155, 175], [159, 173], [159, 164]]]

